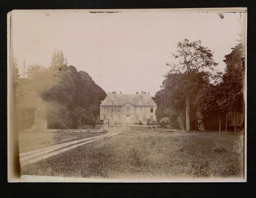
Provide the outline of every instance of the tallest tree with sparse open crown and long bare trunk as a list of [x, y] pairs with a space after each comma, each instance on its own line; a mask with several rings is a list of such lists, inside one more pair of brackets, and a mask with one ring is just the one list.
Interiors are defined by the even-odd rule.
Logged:
[[176, 62], [167, 63], [170, 66], [170, 73], [179, 73], [184, 76], [185, 99], [186, 99], [186, 126], [190, 131], [190, 94], [191, 76], [206, 68], [212, 69], [217, 63], [213, 60], [213, 52], [201, 45], [201, 40], [189, 42], [184, 39], [177, 43], [177, 52], [172, 54]]

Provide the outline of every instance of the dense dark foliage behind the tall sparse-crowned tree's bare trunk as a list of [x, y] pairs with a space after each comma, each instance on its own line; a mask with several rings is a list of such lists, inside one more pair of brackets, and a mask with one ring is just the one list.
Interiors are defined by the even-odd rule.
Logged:
[[[156, 92], [154, 97], [158, 106], [156, 110], [158, 123], [161, 118], [169, 117], [171, 120], [171, 125], [174, 127], [179, 127], [181, 130], [184, 130], [186, 125], [186, 106], [184, 104], [186, 102], [185, 90], [187, 88], [187, 80], [184, 77], [184, 75], [179, 73], [168, 73], [165, 75], [165, 80], [163, 81], [163, 89]], [[209, 73], [195, 72], [190, 76], [190, 79], [190, 119], [195, 121], [197, 108], [193, 104], [199, 90], [208, 84]], [[162, 97], [160, 97], [161, 94]], [[158, 99], [161, 100], [161, 98], [162, 104], [160, 101], [158, 101]]]

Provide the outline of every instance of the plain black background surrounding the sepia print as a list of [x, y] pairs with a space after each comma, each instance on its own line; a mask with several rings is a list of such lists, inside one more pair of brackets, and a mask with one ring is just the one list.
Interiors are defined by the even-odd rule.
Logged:
[[[0, 1], [0, 197], [256, 197], [255, 166], [255, 3], [248, 0], [10, 0]], [[13, 9], [132, 9], [248, 7], [247, 33], [247, 182], [170, 184], [7, 183], [7, 13]]]

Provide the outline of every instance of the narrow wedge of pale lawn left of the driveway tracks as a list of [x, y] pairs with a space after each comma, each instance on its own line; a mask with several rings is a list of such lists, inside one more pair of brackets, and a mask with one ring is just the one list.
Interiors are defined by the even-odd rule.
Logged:
[[62, 144], [69, 141], [102, 135], [105, 132], [95, 130], [48, 130], [19, 132], [19, 153]]

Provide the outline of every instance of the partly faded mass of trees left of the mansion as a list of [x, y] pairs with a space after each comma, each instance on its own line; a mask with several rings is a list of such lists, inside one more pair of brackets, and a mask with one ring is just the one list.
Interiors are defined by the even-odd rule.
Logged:
[[81, 121], [96, 121], [107, 95], [88, 73], [68, 66], [62, 50], [54, 51], [50, 67], [30, 65], [23, 76], [14, 59], [14, 92], [20, 130], [33, 126], [35, 111], [48, 128], [77, 128]]

